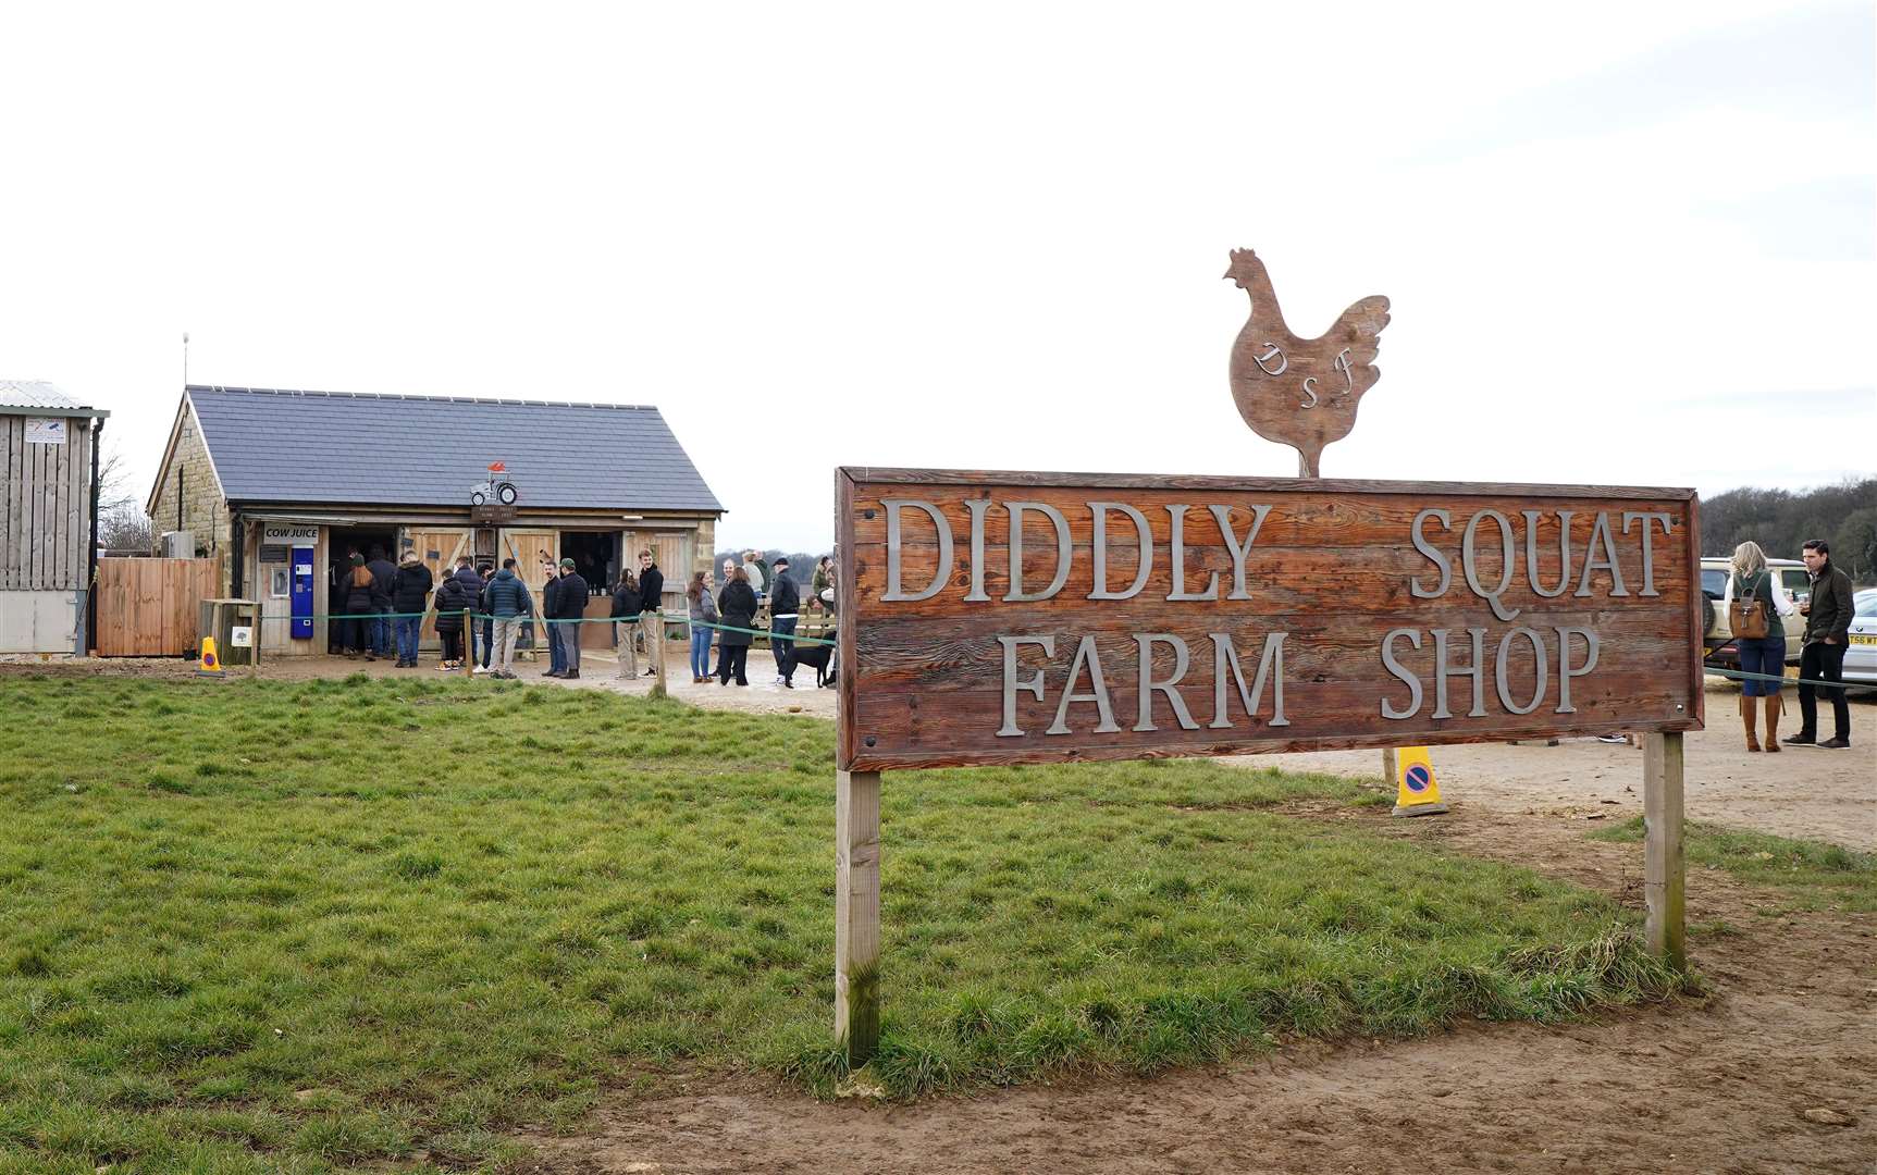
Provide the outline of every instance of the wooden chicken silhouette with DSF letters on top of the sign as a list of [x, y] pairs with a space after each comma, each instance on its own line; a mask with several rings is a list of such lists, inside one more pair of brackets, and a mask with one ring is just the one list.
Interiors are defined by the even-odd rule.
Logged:
[[1389, 325], [1389, 300], [1363, 298], [1318, 338], [1297, 338], [1284, 325], [1271, 274], [1252, 250], [1231, 250], [1226, 276], [1252, 298], [1252, 317], [1231, 343], [1231, 398], [1252, 432], [1289, 445], [1299, 477], [1318, 477], [1323, 447], [1355, 428], [1355, 405], [1381, 379], [1374, 366], [1378, 336]]

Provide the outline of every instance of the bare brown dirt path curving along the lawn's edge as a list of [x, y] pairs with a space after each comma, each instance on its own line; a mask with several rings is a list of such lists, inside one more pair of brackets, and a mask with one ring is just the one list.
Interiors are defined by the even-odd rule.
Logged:
[[[1488, 811], [1368, 820], [1479, 856], [1640, 892], [1635, 847]], [[1689, 882], [1712, 985], [1699, 1002], [1421, 1042], [1312, 1042], [1151, 1081], [1072, 1083], [918, 1106], [820, 1104], [745, 1079], [610, 1102], [535, 1171], [1856, 1171], [1877, 1156], [1873, 920], [1755, 910]], [[1828, 1111], [1847, 1124], [1815, 1122]]]

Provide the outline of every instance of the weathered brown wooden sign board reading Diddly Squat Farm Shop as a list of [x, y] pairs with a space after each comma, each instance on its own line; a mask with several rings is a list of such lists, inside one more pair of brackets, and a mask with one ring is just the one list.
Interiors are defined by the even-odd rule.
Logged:
[[1693, 490], [835, 484], [841, 770], [1702, 725]]

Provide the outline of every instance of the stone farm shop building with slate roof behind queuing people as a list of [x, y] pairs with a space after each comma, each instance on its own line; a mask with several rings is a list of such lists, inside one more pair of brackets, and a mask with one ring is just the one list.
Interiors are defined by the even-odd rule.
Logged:
[[[518, 501], [471, 507], [494, 462]], [[664, 610], [683, 614], [723, 507], [655, 407], [190, 385], [148, 512], [220, 561], [225, 595], [261, 603], [265, 649], [325, 653], [353, 550], [415, 550], [439, 574], [512, 557], [537, 606], [544, 565], [567, 557], [595, 591], [588, 616], [606, 616], [599, 593], [651, 548]], [[584, 629], [606, 644], [608, 625]]]

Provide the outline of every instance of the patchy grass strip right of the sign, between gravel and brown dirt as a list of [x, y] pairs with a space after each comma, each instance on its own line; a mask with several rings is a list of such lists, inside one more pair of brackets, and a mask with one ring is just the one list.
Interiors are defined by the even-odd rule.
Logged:
[[[1642, 843], [1642, 816], [1590, 835]], [[1798, 910], [1877, 912], [1877, 852], [1687, 822], [1682, 856], [1689, 865], [1725, 869], [1755, 886], [1783, 890]]]

